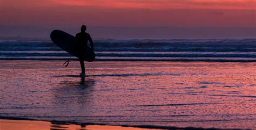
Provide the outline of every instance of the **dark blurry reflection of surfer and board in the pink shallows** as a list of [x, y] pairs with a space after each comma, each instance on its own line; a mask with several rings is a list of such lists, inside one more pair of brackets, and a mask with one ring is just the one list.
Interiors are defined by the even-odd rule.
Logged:
[[[53, 90], [52, 102], [57, 106], [73, 107], [73, 109], [84, 109], [92, 103], [93, 86], [95, 80], [85, 77], [68, 78], [71, 81], [62, 81]], [[74, 81], [76, 80], [76, 81]]]

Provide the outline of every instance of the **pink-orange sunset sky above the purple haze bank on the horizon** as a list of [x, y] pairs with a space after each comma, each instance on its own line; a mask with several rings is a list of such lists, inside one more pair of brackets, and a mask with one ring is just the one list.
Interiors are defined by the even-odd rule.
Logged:
[[255, 0], [0, 0], [0, 25], [255, 27], [255, 6]]

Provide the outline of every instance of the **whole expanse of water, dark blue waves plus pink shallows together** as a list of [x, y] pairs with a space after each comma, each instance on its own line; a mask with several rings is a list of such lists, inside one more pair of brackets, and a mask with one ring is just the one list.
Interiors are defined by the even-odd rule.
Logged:
[[50, 40], [2, 40], [0, 119], [256, 128], [256, 39], [105, 39], [95, 51], [79, 77]]

